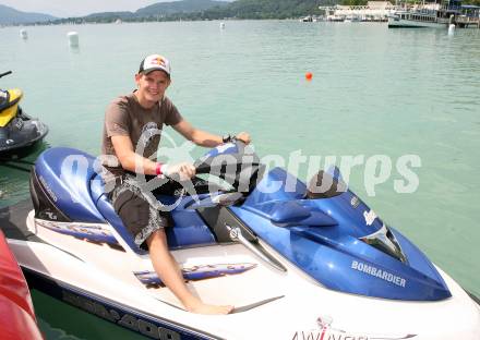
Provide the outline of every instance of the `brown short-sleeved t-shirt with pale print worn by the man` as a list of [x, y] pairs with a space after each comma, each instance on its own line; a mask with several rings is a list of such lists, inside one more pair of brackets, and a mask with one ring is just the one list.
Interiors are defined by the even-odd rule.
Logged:
[[[181, 120], [180, 112], [167, 97], [153, 108], [144, 109], [133, 93], [120, 96], [110, 102], [105, 112], [101, 154], [117, 156], [111, 137], [129, 136], [136, 154], [156, 159], [164, 124], [176, 125]], [[103, 163], [115, 177], [124, 173], [120, 166], [109, 167], [107, 159]], [[107, 180], [108, 175], [104, 174], [104, 179]]]

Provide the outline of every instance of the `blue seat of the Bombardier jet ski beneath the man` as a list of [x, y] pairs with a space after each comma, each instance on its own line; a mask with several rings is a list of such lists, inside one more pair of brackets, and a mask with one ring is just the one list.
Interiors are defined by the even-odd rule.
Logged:
[[[56, 147], [38, 157], [35, 172], [47, 186], [51, 201], [70, 220], [108, 222], [133, 252], [144, 254], [115, 212], [105, 193], [105, 183], [96, 171], [100, 170], [99, 167], [92, 155], [74, 148]], [[171, 214], [175, 228], [166, 229], [170, 248], [216, 244], [212, 231], [195, 211], [178, 207]]]

